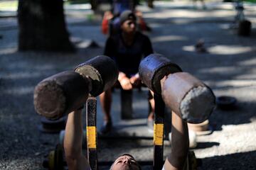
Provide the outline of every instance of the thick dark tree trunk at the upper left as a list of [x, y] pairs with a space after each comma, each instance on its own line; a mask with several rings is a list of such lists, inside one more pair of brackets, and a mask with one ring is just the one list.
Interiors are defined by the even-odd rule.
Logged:
[[18, 27], [18, 50], [75, 50], [65, 28], [63, 0], [19, 0]]

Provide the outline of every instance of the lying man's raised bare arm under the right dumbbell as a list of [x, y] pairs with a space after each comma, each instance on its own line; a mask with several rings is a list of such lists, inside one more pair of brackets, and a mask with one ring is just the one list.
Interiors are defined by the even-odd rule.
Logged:
[[182, 170], [189, 149], [188, 126], [176, 113], [171, 113], [171, 153], [164, 163], [165, 170]]

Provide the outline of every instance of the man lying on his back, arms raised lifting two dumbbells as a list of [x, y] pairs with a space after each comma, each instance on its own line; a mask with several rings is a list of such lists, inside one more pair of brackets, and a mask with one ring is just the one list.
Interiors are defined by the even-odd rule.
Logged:
[[[176, 113], [171, 115], [171, 153], [166, 158], [162, 170], [186, 169], [188, 157], [188, 127]], [[65, 159], [70, 170], [90, 170], [86, 157], [82, 154], [82, 111], [68, 115], [64, 139]], [[106, 153], [107, 154], [107, 153]], [[112, 164], [110, 170], [139, 170], [141, 167], [129, 154], [122, 154]]]

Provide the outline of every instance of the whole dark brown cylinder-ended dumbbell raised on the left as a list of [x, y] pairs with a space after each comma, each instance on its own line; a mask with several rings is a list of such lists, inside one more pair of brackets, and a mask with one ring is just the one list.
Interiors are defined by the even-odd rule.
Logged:
[[35, 109], [46, 118], [61, 118], [80, 108], [89, 94], [97, 96], [110, 88], [117, 76], [117, 67], [110, 57], [95, 57], [80, 64], [75, 72], [60, 72], [41, 81], [34, 91]]

